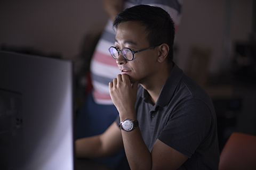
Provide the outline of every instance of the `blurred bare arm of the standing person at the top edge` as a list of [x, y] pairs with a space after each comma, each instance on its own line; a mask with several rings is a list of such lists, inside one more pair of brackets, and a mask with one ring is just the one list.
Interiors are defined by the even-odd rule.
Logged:
[[114, 21], [116, 15], [123, 11], [123, 0], [102, 0], [104, 10], [109, 15], [110, 19]]

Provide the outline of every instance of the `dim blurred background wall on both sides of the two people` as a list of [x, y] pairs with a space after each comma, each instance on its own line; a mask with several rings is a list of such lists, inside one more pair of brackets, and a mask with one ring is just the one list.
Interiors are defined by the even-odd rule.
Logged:
[[[228, 67], [236, 41], [252, 30], [253, 0], [185, 0], [175, 61], [185, 67], [192, 45], [210, 47], [210, 71]], [[0, 1], [0, 45], [30, 46], [64, 58], [79, 53], [83, 37], [101, 30], [107, 15], [100, 0]]]

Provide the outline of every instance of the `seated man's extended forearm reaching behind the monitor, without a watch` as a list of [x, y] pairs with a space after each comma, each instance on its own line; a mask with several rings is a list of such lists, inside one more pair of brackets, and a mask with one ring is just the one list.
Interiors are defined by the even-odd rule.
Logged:
[[123, 147], [121, 130], [116, 123], [100, 135], [77, 139], [75, 141], [76, 156], [82, 158], [99, 158], [114, 154]]

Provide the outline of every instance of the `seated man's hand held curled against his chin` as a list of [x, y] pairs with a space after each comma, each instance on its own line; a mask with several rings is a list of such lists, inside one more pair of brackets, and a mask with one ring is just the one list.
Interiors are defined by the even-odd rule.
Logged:
[[118, 74], [113, 82], [109, 82], [110, 96], [121, 119], [134, 118], [137, 88], [138, 82], [131, 84], [127, 74]]

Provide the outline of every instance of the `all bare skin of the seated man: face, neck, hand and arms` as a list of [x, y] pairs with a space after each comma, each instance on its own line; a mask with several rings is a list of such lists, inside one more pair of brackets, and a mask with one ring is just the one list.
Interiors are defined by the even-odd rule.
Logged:
[[[117, 28], [115, 47], [132, 50], [147, 48], [146, 36], [145, 26], [139, 22], [122, 22]], [[134, 54], [132, 61], [126, 61], [122, 55], [117, 58], [116, 63], [122, 74], [109, 82], [109, 91], [121, 121], [125, 118], [137, 120], [134, 107], [138, 83], [148, 91], [151, 103], [156, 103], [172, 70], [172, 64], [165, 60], [168, 52], [169, 46], [162, 44]], [[101, 135], [76, 141], [77, 156], [81, 157], [106, 156], [122, 146], [131, 169], [177, 169], [188, 158], [158, 139], [150, 152], [139, 127], [131, 132], [121, 131], [115, 122]]]

